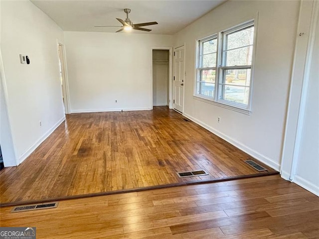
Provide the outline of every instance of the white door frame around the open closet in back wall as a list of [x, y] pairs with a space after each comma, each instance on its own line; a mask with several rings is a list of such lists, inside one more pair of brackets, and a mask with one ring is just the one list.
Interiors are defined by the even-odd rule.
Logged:
[[172, 109], [172, 51], [171, 46], [152, 46], [151, 47], [151, 107], [153, 110], [153, 50], [169, 50], [168, 56], [168, 108]]

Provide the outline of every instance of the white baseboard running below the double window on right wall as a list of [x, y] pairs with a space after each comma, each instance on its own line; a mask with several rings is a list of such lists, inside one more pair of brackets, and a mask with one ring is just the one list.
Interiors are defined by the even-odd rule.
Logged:
[[266, 164], [267, 166], [275, 169], [276, 171], [280, 171], [280, 164], [275, 162], [274, 160], [272, 160], [271, 158], [262, 155], [261, 153], [247, 147], [246, 145], [236, 141], [235, 139], [219, 132], [218, 130], [212, 128], [211, 126], [205, 124], [204, 122], [195, 119], [193, 117], [191, 117], [190, 115], [187, 114], [183, 114], [183, 116], [187, 117], [188, 119], [191, 119], [192, 121], [194, 121], [195, 123], [199, 124], [200, 126], [206, 128], [207, 130], [209, 130], [210, 132], [216, 134], [218, 137], [221, 137], [222, 139], [226, 140], [227, 142], [231, 143], [232, 145], [236, 146], [237, 148], [239, 148], [240, 150], [244, 151], [245, 153], [251, 155], [252, 157], [256, 158], [257, 160], [261, 161], [262, 163]]

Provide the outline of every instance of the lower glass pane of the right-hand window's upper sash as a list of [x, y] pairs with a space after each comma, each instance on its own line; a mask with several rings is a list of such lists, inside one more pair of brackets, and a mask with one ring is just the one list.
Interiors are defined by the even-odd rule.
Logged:
[[247, 46], [224, 52], [226, 66], [251, 65], [253, 46]]

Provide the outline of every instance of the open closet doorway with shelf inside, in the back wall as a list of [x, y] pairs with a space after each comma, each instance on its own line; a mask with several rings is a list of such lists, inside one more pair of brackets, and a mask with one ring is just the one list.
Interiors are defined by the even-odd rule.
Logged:
[[153, 49], [153, 106], [169, 103], [169, 50]]

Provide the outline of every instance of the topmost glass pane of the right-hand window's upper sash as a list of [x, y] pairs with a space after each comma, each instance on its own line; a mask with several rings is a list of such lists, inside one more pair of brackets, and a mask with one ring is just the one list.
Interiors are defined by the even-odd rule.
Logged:
[[227, 34], [226, 41], [227, 50], [252, 45], [254, 41], [254, 26]]

